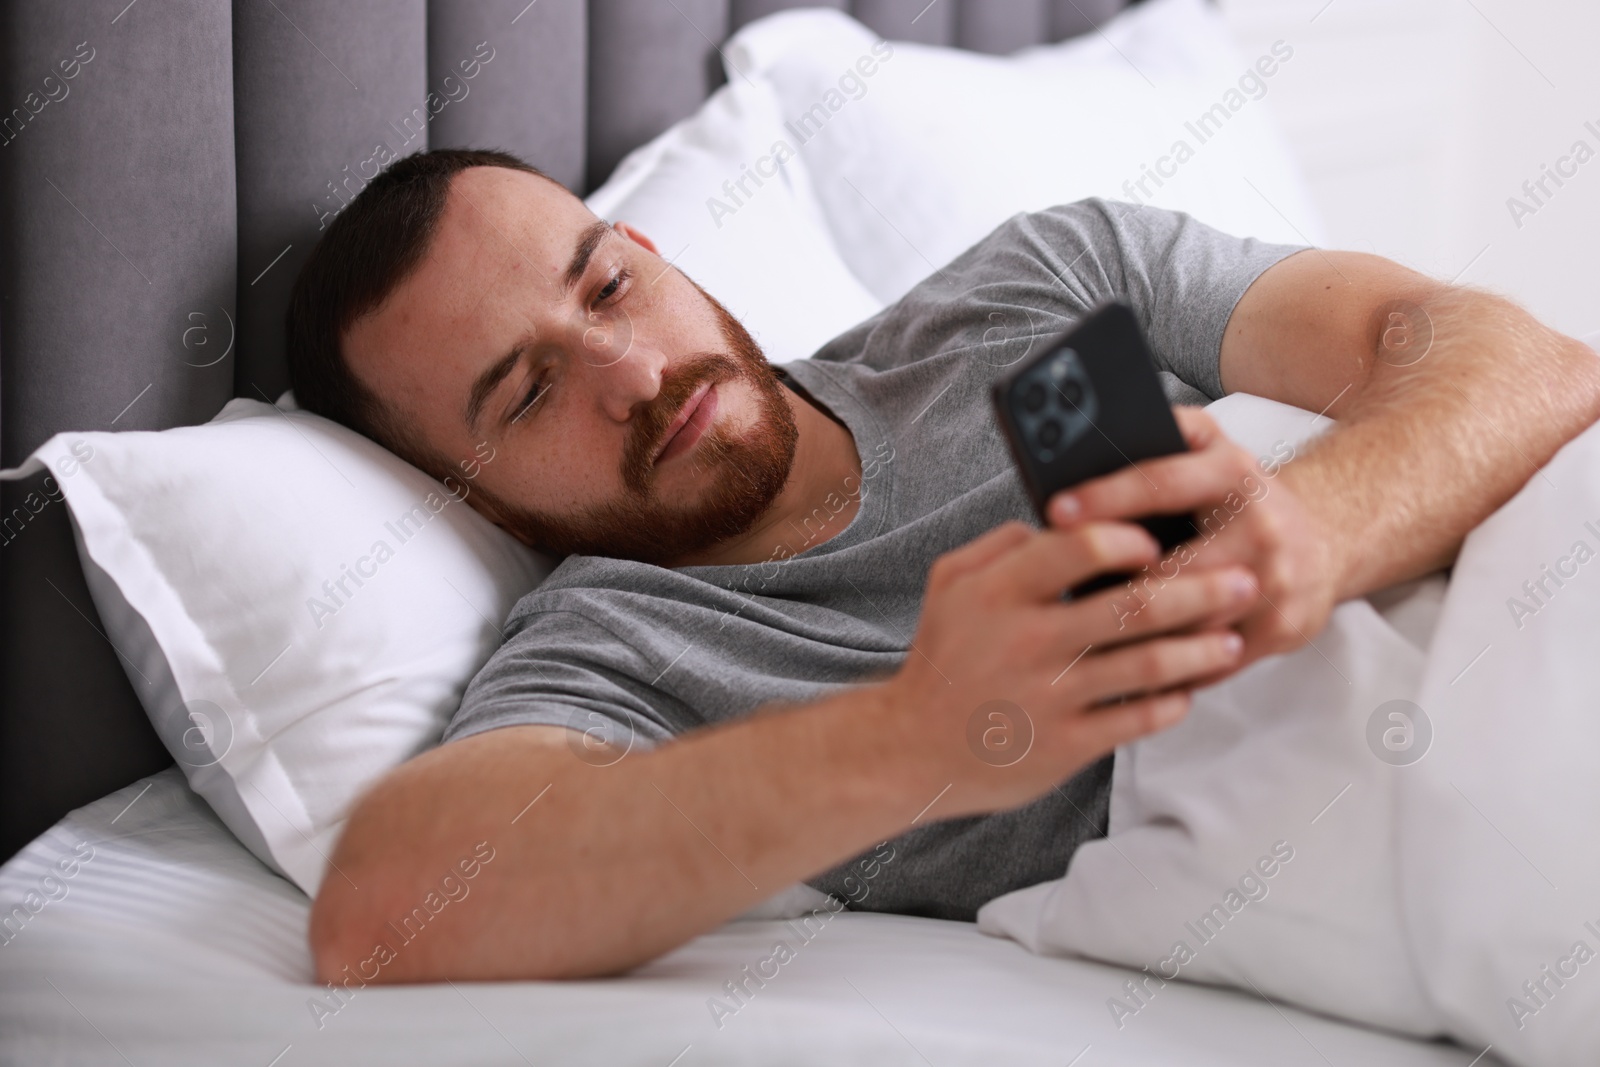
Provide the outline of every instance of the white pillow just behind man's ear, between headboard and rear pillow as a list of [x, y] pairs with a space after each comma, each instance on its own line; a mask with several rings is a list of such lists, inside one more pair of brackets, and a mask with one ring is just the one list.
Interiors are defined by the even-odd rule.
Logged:
[[782, 138], [771, 86], [734, 77], [587, 200], [648, 235], [773, 363], [805, 358], [882, 309], [840, 259], [805, 163]]

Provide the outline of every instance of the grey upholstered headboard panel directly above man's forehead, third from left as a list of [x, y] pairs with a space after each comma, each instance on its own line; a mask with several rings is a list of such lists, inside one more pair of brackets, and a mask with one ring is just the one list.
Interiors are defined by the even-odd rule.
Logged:
[[581, 3], [429, 5], [427, 88], [443, 101], [429, 147], [504, 149], [582, 194], [587, 54]]

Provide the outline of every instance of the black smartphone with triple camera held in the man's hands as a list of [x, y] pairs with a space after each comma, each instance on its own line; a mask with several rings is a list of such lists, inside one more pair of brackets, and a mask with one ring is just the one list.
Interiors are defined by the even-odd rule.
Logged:
[[[1061, 490], [1141, 459], [1189, 451], [1144, 331], [1126, 304], [1094, 309], [1043, 352], [1014, 366], [994, 387], [995, 414], [1022, 472], [1040, 525]], [[1139, 520], [1171, 550], [1198, 533], [1194, 515]], [[1083, 597], [1128, 581], [1096, 574], [1075, 585]]]

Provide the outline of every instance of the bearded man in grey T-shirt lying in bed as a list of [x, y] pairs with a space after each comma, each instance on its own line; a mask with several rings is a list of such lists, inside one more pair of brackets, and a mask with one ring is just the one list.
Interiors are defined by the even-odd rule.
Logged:
[[[1062, 494], [1038, 531], [987, 410], [1106, 299], [1170, 398], [1339, 421], [1173, 560], [1130, 520], [1210, 515], [1259, 474], [1202, 411], [1178, 408], [1190, 453]], [[379, 981], [616, 973], [797, 881], [971, 918], [1104, 833], [1117, 745], [1448, 565], [1600, 418], [1594, 354], [1507, 301], [1101, 200], [1013, 218], [778, 373], [646, 235], [490, 152], [374, 179], [288, 331], [304, 406], [475, 472], [474, 507], [566, 557], [446, 744], [354, 811], [312, 912], [328, 981], [478, 843], [470, 902]], [[1136, 608], [1061, 600], [1155, 565]], [[1026, 755], [992, 758], [990, 728]]]

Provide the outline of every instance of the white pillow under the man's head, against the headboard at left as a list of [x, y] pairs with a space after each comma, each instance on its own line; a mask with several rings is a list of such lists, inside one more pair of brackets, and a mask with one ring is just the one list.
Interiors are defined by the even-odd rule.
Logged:
[[549, 565], [466, 504], [480, 467], [446, 488], [282, 403], [232, 400], [160, 434], [58, 434], [6, 474], [54, 474], [162, 741], [314, 896], [354, 800], [438, 744]]

